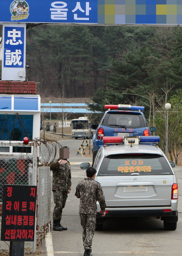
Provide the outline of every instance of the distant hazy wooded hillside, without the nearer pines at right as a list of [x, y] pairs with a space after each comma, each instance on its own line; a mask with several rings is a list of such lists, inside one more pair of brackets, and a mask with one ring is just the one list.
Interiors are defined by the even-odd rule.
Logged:
[[155, 28], [46, 26], [27, 29], [29, 81], [41, 96], [90, 97], [106, 88], [112, 60], [144, 47]]

